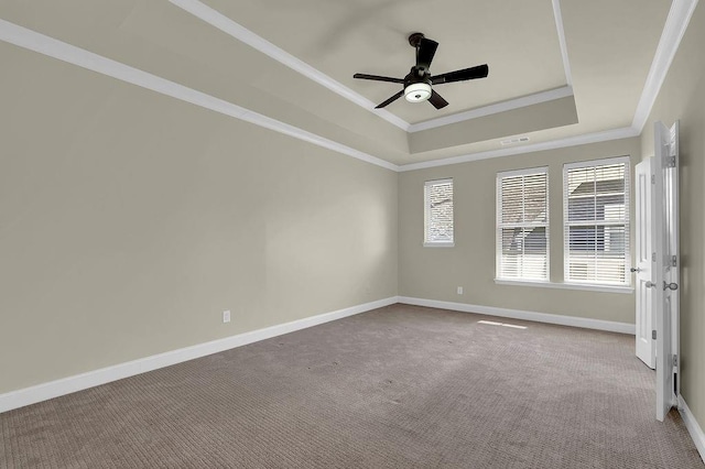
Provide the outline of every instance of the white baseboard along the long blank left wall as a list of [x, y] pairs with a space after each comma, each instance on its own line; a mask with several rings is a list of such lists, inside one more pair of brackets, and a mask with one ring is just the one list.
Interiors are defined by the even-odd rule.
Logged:
[[399, 303], [392, 296], [0, 394], [0, 413]]

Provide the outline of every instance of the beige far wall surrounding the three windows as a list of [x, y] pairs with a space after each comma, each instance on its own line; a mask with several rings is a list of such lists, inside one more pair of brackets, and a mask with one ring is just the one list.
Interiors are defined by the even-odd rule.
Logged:
[[[633, 163], [638, 162], [639, 139], [401, 173], [399, 178], [400, 295], [633, 323], [633, 294], [498, 285], [494, 280], [497, 172], [549, 166], [551, 280], [562, 282], [563, 163], [622, 155], [630, 155]], [[445, 177], [453, 177], [454, 181], [455, 247], [423, 248], [423, 183]], [[631, 212], [633, 217], [633, 200]], [[463, 295], [456, 293], [457, 286], [464, 287]]]

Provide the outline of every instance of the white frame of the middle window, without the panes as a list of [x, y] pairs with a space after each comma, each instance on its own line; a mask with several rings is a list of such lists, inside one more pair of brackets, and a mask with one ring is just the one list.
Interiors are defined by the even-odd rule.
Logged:
[[[502, 239], [501, 232], [502, 228], [506, 228], [507, 225], [502, 223], [502, 197], [501, 197], [501, 181], [505, 177], [516, 177], [516, 176], [528, 176], [533, 174], [545, 174], [546, 175], [546, 221], [544, 223], [527, 223], [527, 226], [535, 226], [535, 227], [545, 227], [546, 230], [546, 277], [544, 280], [536, 279], [522, 279], [522, 277], [502, 277], [501, 273], [501, 260], [502, 260]], [[513, 170], [513, 171], [502, 171], [497, 173], [496, 184], [496, 207], [497, 215], [495, 218], [495, 282], [496, 283], [523, 283], [523, 284], [546, 284], [551, 282], [551, 198], [549, 190], [549, 166], [539, 166], [539, 167], [528, 167], [523, 170]], [[516, 226], [516, 225], [511, 225]]]

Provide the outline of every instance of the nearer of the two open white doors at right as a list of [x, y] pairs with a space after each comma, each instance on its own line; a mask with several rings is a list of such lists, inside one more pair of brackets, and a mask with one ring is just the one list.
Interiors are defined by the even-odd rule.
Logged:
[[679, 123], [655, 123], [652, 215], [657, 330], [657, 418], [663, 421], [679, 393]]

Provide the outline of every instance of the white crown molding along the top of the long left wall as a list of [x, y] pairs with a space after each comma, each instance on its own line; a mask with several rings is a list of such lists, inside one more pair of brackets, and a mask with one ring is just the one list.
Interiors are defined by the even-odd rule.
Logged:
[[59, 61], [77, 65], [101, 75], [106, 75], [121, 81], [129, 83], [161, 95], [170, 96], [192, 105], [199, 106], [212, 111], [219, 112], [246, 122], [253, 123], [294, 139], [313, 143], [334, 152], [352, 156], [357, 160], [371, 163], [387, 170], [398, 171], [399, 166], [388, 161], [378, 159], [368, 153], [300, 129], [276, 119], [272, 119], [259, 112], [251, 111], [241, 106], [207, 95], [193, 88], [180, 85], [175, 81], [152, 75], [148, 72], [131, 67], [117, 61], [104, 57], [84, 48], [76, 47], [54, 37], [37, 33], [36, 31], [19, 26], [0, 19], [0, 41], [14, 44], [36, 53], [57, 58]]

